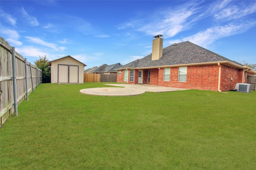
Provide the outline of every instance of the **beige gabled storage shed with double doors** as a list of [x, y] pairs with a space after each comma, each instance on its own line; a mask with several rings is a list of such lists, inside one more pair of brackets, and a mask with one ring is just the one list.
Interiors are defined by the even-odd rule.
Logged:
[[84, 83], [84, 66], [86, 64], [70, 55], [50, 61], [48, 64], [51, 66], [51, 83]]

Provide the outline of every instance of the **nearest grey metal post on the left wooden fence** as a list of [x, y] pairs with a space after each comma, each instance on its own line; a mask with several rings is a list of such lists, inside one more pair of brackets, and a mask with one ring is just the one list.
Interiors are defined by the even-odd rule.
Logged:
[[12, 47], [12, 80], [13, 80], [13, 98], [14, 98], [14, 114], [18, 116], [17, 104], [17, 81], [16, 81], [16, 63], [15, 63], [15, 47]]

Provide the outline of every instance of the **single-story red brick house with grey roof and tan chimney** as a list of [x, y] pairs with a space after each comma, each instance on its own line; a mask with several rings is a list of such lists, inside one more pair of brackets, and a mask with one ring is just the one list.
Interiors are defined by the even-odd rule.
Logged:
[[162, 35], [154, 36], [152, 54], [116, 69], [117, 82], [221, 92], [246, 82], [247, 74], [256, 74], [189, 41], [162, 47]]

